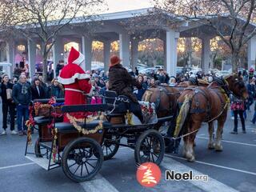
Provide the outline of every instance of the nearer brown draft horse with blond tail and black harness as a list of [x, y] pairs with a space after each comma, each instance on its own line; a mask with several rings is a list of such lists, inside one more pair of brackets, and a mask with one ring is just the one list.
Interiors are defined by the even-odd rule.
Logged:
[[[183, 138], [185, 158], [194, 162], [194, 138], [202, 122], [209, 124], [209, 149], [222, 151], [222, 131], [226, 122], [230, 91], [238, 98], [247, 98], [247, 90], [242, 78], [232, 74], [219, 78], [207, 87], [190, 86], [178, 98], [181, 109], [178, 114], [174, 136], [189, 134]], [[218, 121], [217, 137], [213, 141], [214, 124]]]

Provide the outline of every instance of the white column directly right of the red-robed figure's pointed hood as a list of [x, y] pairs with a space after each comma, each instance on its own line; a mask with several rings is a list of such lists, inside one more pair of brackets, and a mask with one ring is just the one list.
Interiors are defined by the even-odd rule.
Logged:
[[82, 36], [82, 54], [85, 56], [85, 62], [82, 62], [83, 70], [91, 70], [92, 42], [91, 38]]

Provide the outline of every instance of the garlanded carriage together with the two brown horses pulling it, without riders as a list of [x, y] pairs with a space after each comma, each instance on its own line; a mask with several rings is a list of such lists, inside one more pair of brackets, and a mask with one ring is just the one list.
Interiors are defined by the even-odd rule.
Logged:
[[[114, 157], [119, 146], [134, 149], [135, 162], [138, 164], [154, 162], [159, 165], [166, 150], [165, 143], [167, 149], [172, 148], [183, 138], [183, 154], [188, 161], [194, 162], [194, 138], [202, 122], [208, 122], [209, 125], [208, 148], [222, 150], [222, 129], [230, 92], [240, 98], [248, 96], [246, 86], [237, 75], [215, 79], [209, 86], [188, 85], [182, 91], [173, 87], [152, 88], [143, 95], [149, 105], [144, 111], [148, 121], [135, 125], [130, 123], [130, 112], [138, 109], [132, 108], [125, 96], [117, 96], [112, 91], [106, 92], [106, 104], [60, 107], [58, 103], [50, 102], [46, 105], [50, 109], [46, 110], [48, 114], [43, 113], [46, 117], [35, 113], [38, 112], [38, 104], [34, 103], [35, 112], [31, 110], [30, 113], [30, 117], [34, 114], [34, 120], [31, 119], [27, 124], [29, 127], [34, 124], [38, 126], [39, 138], [35, 142], [34, 153], [28, 152], [27, 146], [31, 142], [28, 130], [26, 158], [46, 170], [62, 166], [68, 178], [83, 182], [93, 178], [103, 160]], [[156, 111], [153, 112], [150, 108], [152, 103], [156, 104]], [[94, 115], [77, 119], [72, 116], [76, 112]], [[158, 114], [157, 121], [151, 121], [155, 113]], [[63, 114], [71, 123], [62, 122]], [[214, 120], [218, 121], [215, 141]], [[163, 122], [171, 122], [167, 137], [158, 131]], [[126, 144], [122, 138], [126, 138]]]

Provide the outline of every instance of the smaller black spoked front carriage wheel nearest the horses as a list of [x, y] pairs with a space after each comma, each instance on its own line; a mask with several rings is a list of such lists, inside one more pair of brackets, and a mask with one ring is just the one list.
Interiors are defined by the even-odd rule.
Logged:
[[135, 145], [135, 162], [154, 162], [160, 165], [165, 153], [165, 143], [157, 130], [146, 130], [139, 137]]

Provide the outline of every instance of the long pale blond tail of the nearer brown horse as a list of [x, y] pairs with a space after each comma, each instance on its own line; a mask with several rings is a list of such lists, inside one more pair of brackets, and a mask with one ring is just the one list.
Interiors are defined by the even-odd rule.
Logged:
[[182, 126], [184, 126], [185, 122], [186, 122], [186, 118], [190, 112], [190, 106], [191, 106], [191, 99], [188, 95], [185, 96], [185, 100], [182, 103], [182, 106], [178, 112], [178, 118], [176, 121], [176, 127], [174, 130], [174, 137], [178, 137], [178, 134], [181, 132], [182, 130]]

